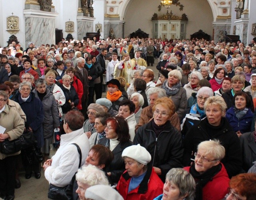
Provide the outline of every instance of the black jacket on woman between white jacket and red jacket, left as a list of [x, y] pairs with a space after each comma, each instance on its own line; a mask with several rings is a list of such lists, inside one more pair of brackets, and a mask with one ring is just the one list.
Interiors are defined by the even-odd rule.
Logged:
[[70, 102], [74, 102], [74, 106], [76, 107], [78, 105], [79, 98], [78, 98], [76, 90], [73, 86], [70, 86], [70, 90], [64, 88], [63, 85], [61, 85], [60, 88], [64, 92], [64, 95], [66, 98], [65, 104], [63, 106], [61, 106], [62, 112], [64, 114], [66, 114], [68, 111], [70, 111], [72, 109], [70, 106]]

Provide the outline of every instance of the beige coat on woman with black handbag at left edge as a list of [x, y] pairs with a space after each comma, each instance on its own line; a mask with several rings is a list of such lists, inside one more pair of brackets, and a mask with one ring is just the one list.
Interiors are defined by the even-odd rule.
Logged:
[[[10, 109], [8, 105], [5, 105], [4, 110], [0, 113], [0, 119], [0, 126], [6, 128], [4, 134], [10, 136], [8, 140], [15, 140], [22, 135], [24, 131], [24, 120], [22, 120], [16, 110]], [[0, 160], [3, 160], [7, 156], [15, 156], [18, 154], [20, 154], [20, 151], [11, 155], [0, 153]]]

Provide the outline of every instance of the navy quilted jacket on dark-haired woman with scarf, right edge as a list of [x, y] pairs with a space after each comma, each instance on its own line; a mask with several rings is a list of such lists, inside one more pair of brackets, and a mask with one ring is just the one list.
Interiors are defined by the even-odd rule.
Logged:
[[238, 130], [241, 133], [251, 132], [253, 113], [250, 108], [240, 120], [236, 117], [234, 107], [229, 108], [226, 112], [226, 118], [235, 132], [238, 132]]

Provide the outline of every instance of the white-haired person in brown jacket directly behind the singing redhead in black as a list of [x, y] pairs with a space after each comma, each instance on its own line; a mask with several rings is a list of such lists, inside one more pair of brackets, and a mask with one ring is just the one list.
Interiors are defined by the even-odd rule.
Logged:
[[[152, 108], [154, 106], [154, 103], [158, 98], [161, 98], [164, 96], [166, 96], [166, 92], [162, 88], [157, 88], [157, 87], [150, 88], [147, 91], [147, 97], [150, 100], [150, 106], [147, 106], [146, 108], [142, 109], [142, 112], [140, 114], [140, 120], [135, 127], [135, 132], [138, 130], [138, 128], [140, 126], [147, 124], [153, 118]], [[170, 122], [171, 122], [172, 126], [180, 132], [180, 120], [179, 120], [178, 114], [176, 112], [170, 118]]]

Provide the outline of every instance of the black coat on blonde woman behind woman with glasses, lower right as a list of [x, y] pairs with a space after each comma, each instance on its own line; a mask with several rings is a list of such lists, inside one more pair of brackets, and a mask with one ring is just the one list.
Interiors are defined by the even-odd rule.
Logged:
[[[185, 166], [190, 166], [194, 159], [194, 153], [197, 151], [197, 146], [200, 142], [206, 140], [220, 140], [225, 148], [225, 157], [221, 160], [224, 164], [228, 176], [231, 178], [238, 174], [242, 168], [242, 152], [238, 136], [228, 123], [226, 118], [221, 119], [220, 126], [212, 126], [208, 119], [204, 118], [199, 125], [192, 126], [184, 138], [184, 160]], [[193, 151], [193, 156], [192, 155]]]

